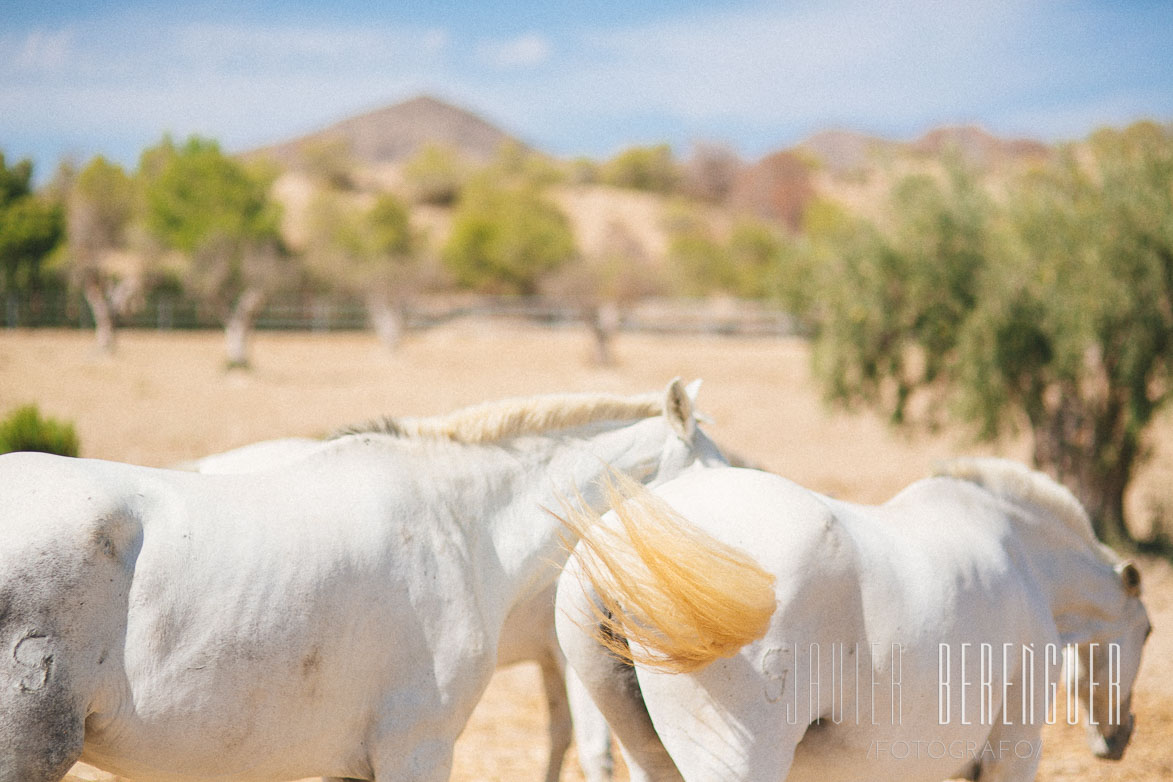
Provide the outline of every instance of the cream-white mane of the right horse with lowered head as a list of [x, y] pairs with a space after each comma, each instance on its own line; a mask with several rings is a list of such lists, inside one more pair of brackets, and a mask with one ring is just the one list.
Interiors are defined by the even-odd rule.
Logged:
[[1036, 505], [1078, 532], [1097, 550], [1101, 548], [1083, 503], [1045, 472], [1012, 460], [965, 457], [937, 467], [935, 474], [969, 481], [999, 497]]

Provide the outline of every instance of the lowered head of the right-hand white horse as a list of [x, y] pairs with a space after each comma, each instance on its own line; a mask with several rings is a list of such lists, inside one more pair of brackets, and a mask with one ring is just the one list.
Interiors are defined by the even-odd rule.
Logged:
[[[1132, 737], [1132, 689], [1140, 654], [1152, 632], [1140, 601], [1140, 571], [1119, 563], [1111, 584], [1119, 613], [1101, 638], [1074, 647], [1067, 655], [1067, 692], [1077, 693], [1084, 708], [1087, 743], [1097, 757], [1120, 760]], [[1070, 696], [1070, 695], [1069, 695]]]

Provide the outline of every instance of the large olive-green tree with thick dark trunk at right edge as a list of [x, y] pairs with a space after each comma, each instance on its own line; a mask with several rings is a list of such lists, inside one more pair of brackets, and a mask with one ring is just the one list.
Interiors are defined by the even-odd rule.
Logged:
[[[964, 324], [964, 409], [1025, 420], [1035, 461], [1130, 543], [1124, 496], [1173, 388], [1173, 125], [1103, 130], [1016, 190], [1012, 243]], [[984, 286], [983, 286], [984, 287]]]

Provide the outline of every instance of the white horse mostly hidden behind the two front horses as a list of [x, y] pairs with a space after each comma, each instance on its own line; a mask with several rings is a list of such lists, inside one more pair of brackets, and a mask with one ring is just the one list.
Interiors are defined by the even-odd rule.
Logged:
[[[685, 390], [692, 397], [696, 386]], [[265, 440], [185, 462], [179, 468], [206, 475], [257, 472], [289, 465], [317, 453], [323, 444], [324, 441], [311, 437]], [[561, 565], [564, 558], [562, 555], [551, 559], [551, 564]], [[572, 736], [585, 781], [610, 782], [613, 771], [611, 730], [578, 676], [567, 669], [554, 632], [555, 587], [551, 580], [544, 590], [509, 612], [497, 642], [497, 667], [524, 661], [538, 665], [548, 714], [549, 754], [544, 781], [558, 782], [562, 777], [562, 763]]]

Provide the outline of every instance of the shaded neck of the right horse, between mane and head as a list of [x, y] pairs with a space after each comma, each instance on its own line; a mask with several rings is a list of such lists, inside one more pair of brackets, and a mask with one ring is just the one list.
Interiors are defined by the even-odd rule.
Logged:
[[1051, 519], [1018, 525], [1031, 570], [1047, 596], [1059, 639], [1085, 644], [1118, 621], [1120, 579], [1094, 540]]

